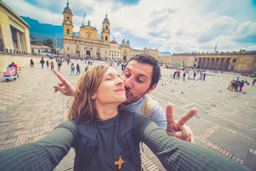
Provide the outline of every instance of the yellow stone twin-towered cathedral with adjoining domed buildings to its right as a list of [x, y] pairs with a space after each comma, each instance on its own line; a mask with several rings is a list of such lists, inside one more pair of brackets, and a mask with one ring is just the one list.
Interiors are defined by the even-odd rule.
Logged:
[[86, 57], [113, 59], [128, 61], [132, 56], [138, 53], [148, 53], [152, 56], [158, 56], [159, 51], [156, 48], [143, 50], [136, 50], [130, 48], [130, 42], [123, 41], [121, 46], [118, 46], [115, 38], [110, 40], [111, 29], [108, 15], [103, 19], [101, 39], [97, 37], [97, 29], [91, 26], [90, 21], [88, 25], [84, 24], [80, 27], [80, 34], [76, 36], [73, 33], [73, 14], [67, 2], [66, 8], [63, 11], [63, 53], [64, 56]]

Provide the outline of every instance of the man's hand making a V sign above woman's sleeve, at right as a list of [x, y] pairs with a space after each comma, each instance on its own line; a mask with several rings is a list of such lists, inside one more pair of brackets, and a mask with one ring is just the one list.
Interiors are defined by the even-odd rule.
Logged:
[[188, 125], [185, 125], [185, 123], [187, 123], [187, 121], [190, 120], [190, 118], [192, 118], [197, 112], [197, 108], [192, 108], [188, 111], [188, 113], [180, 116], [180, 118], [175, 121], [173, 119], [173, 105], [168, 104], [166, 106], [167, 126], [165, 130], [171, 135], [175, 135], [175, 137], [180, 138], [181, 140], [195, 142], [192, 130]]

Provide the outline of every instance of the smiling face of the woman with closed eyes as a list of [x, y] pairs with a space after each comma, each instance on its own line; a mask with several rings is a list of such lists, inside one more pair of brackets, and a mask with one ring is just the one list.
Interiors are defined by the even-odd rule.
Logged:
[[115, 68], [108, 68], [92, 99], [95, 100], [96, 104], [101, 103], [102, 105], [111, 103], [119, 105], [126, 101], [126, 89], [121, 76]]

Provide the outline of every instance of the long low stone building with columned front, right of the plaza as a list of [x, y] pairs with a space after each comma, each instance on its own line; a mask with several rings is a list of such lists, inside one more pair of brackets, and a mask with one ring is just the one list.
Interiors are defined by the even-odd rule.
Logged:
[[160, 55], [157, 59], [163, 65], [182, 68], [256, 73], [256, 51], [173, 53], [171, 55]]

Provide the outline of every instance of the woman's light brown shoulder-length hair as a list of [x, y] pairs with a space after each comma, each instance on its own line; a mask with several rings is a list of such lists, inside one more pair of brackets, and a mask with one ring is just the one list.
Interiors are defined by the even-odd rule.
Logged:
[[68, 119], [100, 120], [96, 111], [92, 96], [98, 90], [103, 76], [108, 70], [108, 65], [91, 66], [76, 83], [76, 93], [73, 95], [73, 103], [69, 108]]

